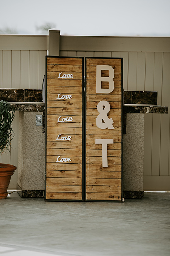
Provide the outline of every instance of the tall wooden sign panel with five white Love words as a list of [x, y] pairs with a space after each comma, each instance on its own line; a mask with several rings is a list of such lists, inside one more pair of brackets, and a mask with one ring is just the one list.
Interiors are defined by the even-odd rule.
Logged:
[[82, 201], [83, 58], [46, 57], [45, 200]]

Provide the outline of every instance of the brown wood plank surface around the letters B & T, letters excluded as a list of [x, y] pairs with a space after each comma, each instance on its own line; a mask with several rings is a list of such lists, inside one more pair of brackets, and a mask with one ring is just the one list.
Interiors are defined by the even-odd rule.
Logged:
[[[89, 58], [86, 61], [86, 200], [119, 201], [122, 169], [121, 59]], [[96, 65], [111, 65], [114, 68], [114, 90], [109, 94], [96, 94]], [[109, 71], [102, 70], [101, 76], [109, 76]], [[108, 86], [108, 82], [101, 82], [101, 88]], [[100, 101], [109, 102], [111, 110], [107, 117], [112, 118], [115, 129], [100, 129], [96, 126], [96, 118], [100, 114], [97, 105]], [[95, 144], [96, 139], [113, 139], [113, 144], [107, 144], [108, 167], [102, 167], [102, 144]]]

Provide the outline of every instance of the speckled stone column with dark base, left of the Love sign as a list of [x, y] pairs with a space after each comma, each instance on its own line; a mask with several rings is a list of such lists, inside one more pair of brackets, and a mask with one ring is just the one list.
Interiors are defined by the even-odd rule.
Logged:
[[45, 177], [45, 134], [36, 126], [36, 114], [19, 112], [17, 190], [22, 197], [43, 197]]

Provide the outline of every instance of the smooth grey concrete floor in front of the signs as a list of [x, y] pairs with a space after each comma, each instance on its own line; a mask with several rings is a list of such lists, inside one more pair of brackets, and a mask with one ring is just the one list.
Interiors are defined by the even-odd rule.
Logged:
[[0, 201], [0, 256], [169, 256], [170, 193], [122, 202]]

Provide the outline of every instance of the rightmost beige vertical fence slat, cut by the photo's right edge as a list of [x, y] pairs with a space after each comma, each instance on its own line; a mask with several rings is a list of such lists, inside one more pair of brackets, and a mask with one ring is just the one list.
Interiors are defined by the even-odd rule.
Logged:
[[[163, 56], [163, 80], [162, 80], [162, 105], [168, 106], [168, 114], [162, 114], [161, 123], [161, 148], [160, 148], [160, 175], [168, 175], [169, 165], [169, 138], [170, 138], [170, 53]], [[170, 173], [169, 173], [170, 175]]]

